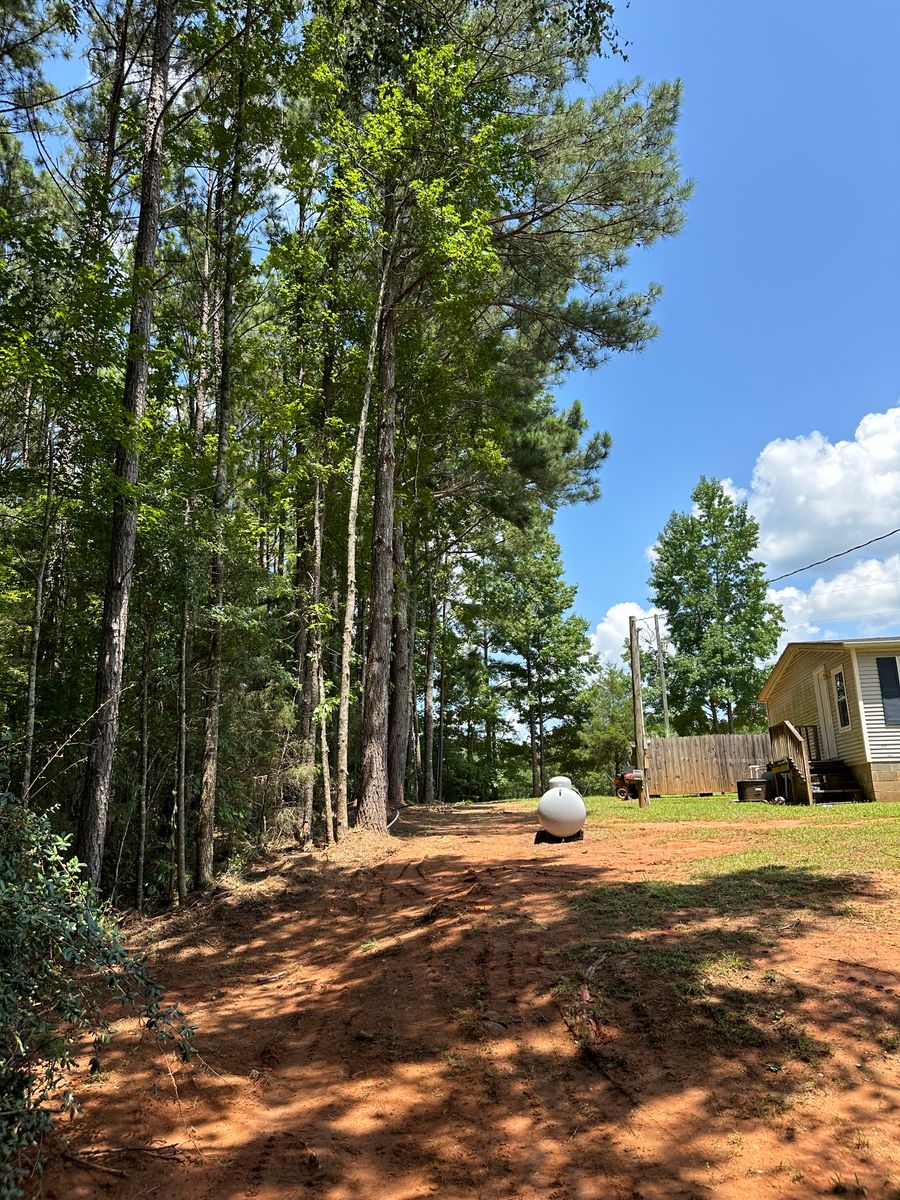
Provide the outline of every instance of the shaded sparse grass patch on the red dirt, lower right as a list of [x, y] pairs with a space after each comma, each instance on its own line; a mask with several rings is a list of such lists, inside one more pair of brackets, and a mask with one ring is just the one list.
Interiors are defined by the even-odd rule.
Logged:
[[[672, 1048], [690, 1054], [701, 1074], [739, 1056], [756, 1063], [744, 1115], [782, 1111], [796, 1066], [830, 1051], [800, 1019], [806, 986], [774, 971], [767, 955], [799, 928], [842, 918], [851, 900], [872, 894], [850, 872], [784, 863], [727, 870], [719, 859], [688, 881], [601, 883], [569, 898], [583, 940], [563, 950], [575, 970], [554, 995], [582, 1049], [599, 1048], [606, 1060], [622, 1046], [624, 1062]], [[763, 1080], [782, 1072], [785, 1090], [775, 1093]]]

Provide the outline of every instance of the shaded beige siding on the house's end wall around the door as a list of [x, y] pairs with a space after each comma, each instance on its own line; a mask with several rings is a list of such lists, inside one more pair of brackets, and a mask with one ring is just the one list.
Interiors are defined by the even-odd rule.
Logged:
[[[900, 643], [898, 644], [900, 652]], [[838, 757], [847, 763], [866, 762], [863, 726], [859, 720], [859, 700], [857, 695], [853, 660], [850, 650], [802, 650], [786, 665], [781, 679], [769, 695], [766, 707], [769, 725], [778, 721], [791, 721], [792, 725], [818, 725], [818, 706], [812, 677], [822, 667], [828, 672], [827, 691], [832, 706], [832, 725]], [[872, 659], [872, 670], [875, 660]], [[859, 662], [862, 673], [862, 655]], [[844, 683], [847, 689], [847, 708], [850, 710], [850, 728], [842, 730], [838, 720], [838, 703], [834, 695], [834, 672], [844, 671]], [[875, 677], [877, 689], [878, 677]], [[865, 689], [864, 689], [865, 690]], [[878, 692], [878, 710], [881, 712], [881, 692]], [[898, 730], [900, 734], [900, 730]], [[871, 730], [869, 733], [871, 738]], [[898, 738], [900, 746], [900, 737]], [[889, 757], [889, 756], [888, 756]]]

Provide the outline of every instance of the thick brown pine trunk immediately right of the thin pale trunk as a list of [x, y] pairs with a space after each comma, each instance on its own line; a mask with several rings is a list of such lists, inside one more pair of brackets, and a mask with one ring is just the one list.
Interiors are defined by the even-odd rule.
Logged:
[[376, 494], [372, 517], [372, 588], [368, 649], [362, 695], [362, 769], [359, 822], [388, 830], [388, 714], [390, 702], [391, 610], [394, 607], [394, 468], [397, 415], [397, 310], [385, 306], [382, 322]]

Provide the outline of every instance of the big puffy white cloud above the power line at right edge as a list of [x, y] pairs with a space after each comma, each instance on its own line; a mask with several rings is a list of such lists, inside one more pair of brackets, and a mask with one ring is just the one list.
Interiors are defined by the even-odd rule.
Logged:
[[749, 508], [760, 556], [787, 569], [900, 524], [900, 407], [869, 413], [852, 442], [776, 438], [754, 468]]

